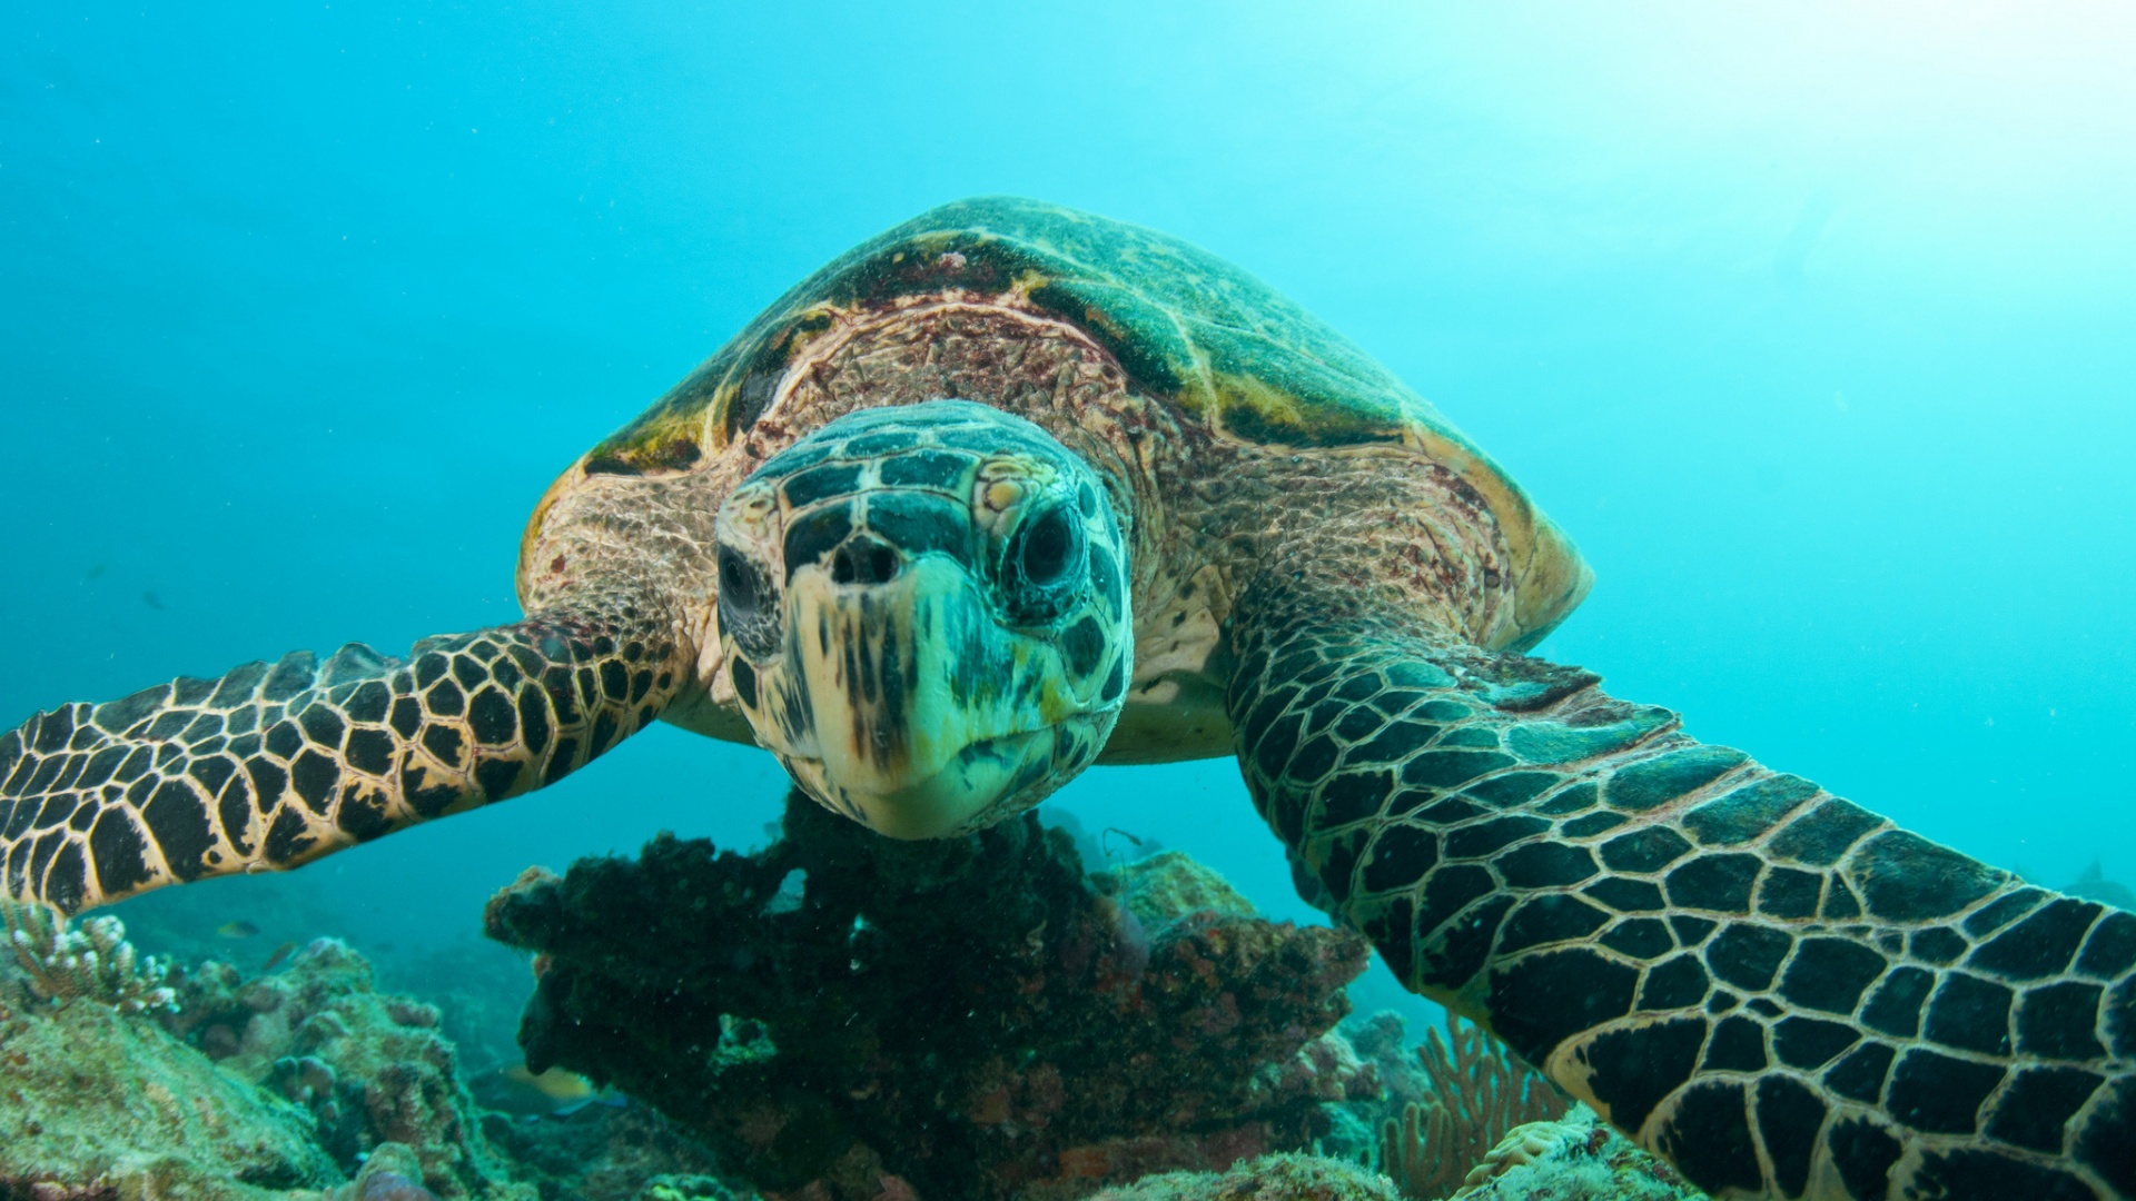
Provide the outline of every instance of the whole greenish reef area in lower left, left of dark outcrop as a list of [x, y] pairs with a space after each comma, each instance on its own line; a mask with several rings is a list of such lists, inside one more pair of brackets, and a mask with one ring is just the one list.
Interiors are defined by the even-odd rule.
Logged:
[[[248, 979], [220, 962], [143, 970], [115, 921], [68, 930], [11, 908], [6, 923], [0, 1197], [752, 1197], [645, 1107], [611, 1101], [530, 1122], [478, 1111], [438, 1009], [378, 992], [370, 964], [337, 940], [310, 942], [282, 974]], [[461, 983], [515, 996], [523, 972]]]

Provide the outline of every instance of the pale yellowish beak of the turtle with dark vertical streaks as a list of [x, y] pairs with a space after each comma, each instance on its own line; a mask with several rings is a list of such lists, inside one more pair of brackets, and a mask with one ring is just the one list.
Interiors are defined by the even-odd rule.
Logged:
[[[891, 838], [963, 833], [1077, 776], [1115, 705], [1057, 648], [1004, 628], [946, 556], [906, 562], [865, 532], [795, 573], [769, 739], [824, 806]], [[765, 727], [758, 727], [760, 733]]]

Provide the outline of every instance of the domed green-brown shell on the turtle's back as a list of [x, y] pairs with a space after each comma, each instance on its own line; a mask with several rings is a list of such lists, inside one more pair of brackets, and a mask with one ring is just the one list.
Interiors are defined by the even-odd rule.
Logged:
[[1198, 246], [1019, 197], [948, 203], [842, 254], [581, 466], [587, 474], [692, 470], [750, 430], [788, 361], [835, 314], [938, 293], [1015, 293], [1079, 325], [1136, 391], [1173, 402], [1218, 436], [1305, 453], [1405, 444], [1444, 464], [1485, 498], [1506, 534], [1521, 643], [1538, 641], [1587, 592], [1589, 571], [1564, 532], [1348, 338]]

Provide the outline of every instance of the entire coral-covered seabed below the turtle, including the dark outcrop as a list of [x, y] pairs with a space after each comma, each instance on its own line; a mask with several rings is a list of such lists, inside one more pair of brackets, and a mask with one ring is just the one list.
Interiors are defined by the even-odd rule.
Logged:
[[754, 853], [530, 870], [521, 962], [391, 987], [335, 938], [237, 968], [250, 923], [6, 925], [0, 1201], [1700, 1197], [1480, 1030], [1350, 1013], [1354, 934], [1030, 814], [788, 799]]

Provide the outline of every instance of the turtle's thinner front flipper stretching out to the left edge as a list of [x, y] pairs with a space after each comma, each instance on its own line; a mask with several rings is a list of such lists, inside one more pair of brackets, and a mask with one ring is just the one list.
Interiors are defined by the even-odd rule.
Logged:
[[0, 735], [4, 891], [62, 910], [295, 868], [560, 780], [643, 729], [688, 667], [624, 609], [350, 643], [60, 705]]

